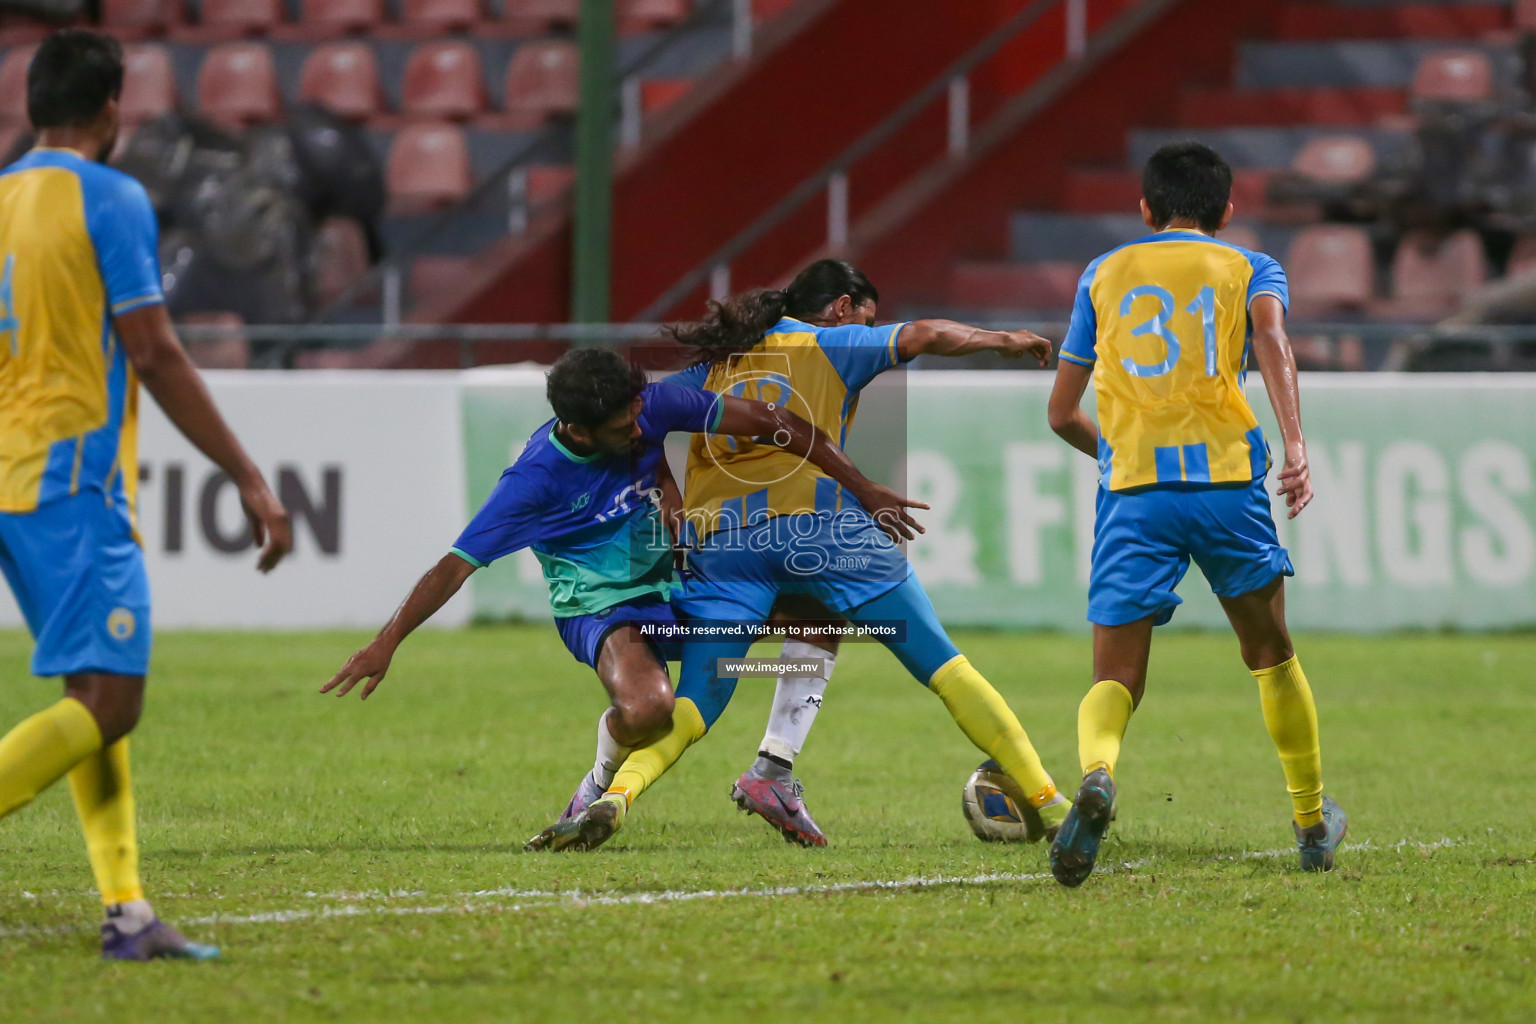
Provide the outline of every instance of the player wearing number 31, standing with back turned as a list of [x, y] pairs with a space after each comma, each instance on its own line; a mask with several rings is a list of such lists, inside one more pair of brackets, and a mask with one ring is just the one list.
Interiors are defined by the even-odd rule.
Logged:
[[[1332, 870], [1346, 820], [1322, 795], [1318, 712], [1286, 631], [1292, 568], [1264, 490], [1269, 445], [1243, 395], [1252, 350], [1286, 442], [1278, 493], [1295, 517], [1312, 500], [1312, 481], [1286, 338], [1286, 273], [1215, 236], [1232, 218], [1232, 169], [1207, 146], [1160, 149], [1141, 195], [1154, 233], [1087, 266], [1051, 393], [1051, 428], [1100, 470], [1087, 585], [1095, 682], [1077, 720], [1083, 785], [1051, 847], [1051, 870], [1066, 886], [1094, 870], [1120, 742], [1146, 688], [1152, 628], [1174, 616], [1174, 588], [1190, 559], [1258, 680], [1301, 867]], [[1097, 425], [1081, 408], [1089, 379]]]

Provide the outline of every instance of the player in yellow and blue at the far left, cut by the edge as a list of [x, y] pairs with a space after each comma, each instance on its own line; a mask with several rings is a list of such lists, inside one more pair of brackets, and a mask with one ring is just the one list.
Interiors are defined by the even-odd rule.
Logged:
[[123, 91], [115, 40], [51, 35], [26, 77], [37, 149], [0, 172], [0, 573], [65, 697], [0, 738], [0, 817], [69, 777], [106, 904], [101, 955], [217, 956], [163, 924], [138, 880], [127, 734], [149, 668], [134, 530], [138, 381], [240, 487], [258, 568], [290, 547], [283, 507], [229, 431], [166, 315], [155, 212], [100, 161]]

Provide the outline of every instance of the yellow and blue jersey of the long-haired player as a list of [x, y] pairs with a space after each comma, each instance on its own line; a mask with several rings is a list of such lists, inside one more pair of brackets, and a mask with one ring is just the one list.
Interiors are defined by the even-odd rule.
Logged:
[[[814, 327], [786, 316], [751, 350], [694, 373], [703, 375], [705, 390], [776, 402], [843, 445], [859, 411], [859, 390], [900, 362], [895, 338], [902, 327]], [[776, 445], [694, 434], [685, 500], [690, 525], [708, 536], [774, 516], [833, 514], [846, 499], [836, 481]]]

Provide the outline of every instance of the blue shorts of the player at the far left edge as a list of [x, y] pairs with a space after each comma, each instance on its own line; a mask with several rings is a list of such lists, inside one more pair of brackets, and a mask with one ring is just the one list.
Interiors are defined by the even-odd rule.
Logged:
[[32, 674], [149, 671], [149, 576], [123, 502], [81, 491], [0, 513], [0, 573], [32, 639]]

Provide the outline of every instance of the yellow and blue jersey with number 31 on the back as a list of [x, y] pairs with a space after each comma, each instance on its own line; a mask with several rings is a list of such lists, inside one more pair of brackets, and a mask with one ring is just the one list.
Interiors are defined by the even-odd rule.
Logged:
[[1243, 395], [1261, 295], [1290, 304], [1275, 259], [1193, 230], [1157, 232], [1087, 266], [1061, 358], [1095, 367], [1106, 490], [1264, 477], [1269, 445]]

